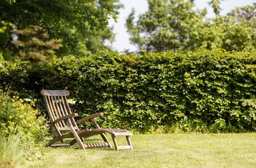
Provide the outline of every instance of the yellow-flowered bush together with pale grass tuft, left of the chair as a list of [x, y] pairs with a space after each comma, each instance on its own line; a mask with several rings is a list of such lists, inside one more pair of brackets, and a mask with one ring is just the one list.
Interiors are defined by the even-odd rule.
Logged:
[[[8, 90], [8, 88], [5, 88]], [[45, 115], [25, 101], [0, 89], [0, 167], [15, 167], [26, 159], [39, 158], [48, 132]]]

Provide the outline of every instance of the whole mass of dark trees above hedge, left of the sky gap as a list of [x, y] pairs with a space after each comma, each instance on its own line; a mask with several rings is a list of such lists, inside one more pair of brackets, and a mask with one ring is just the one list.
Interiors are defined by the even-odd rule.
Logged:
[[[16, 11], [18, 7], [20, 10]], [[40, 59], [51, 61], [69, 53], [84, 56], [101, 48], [111, 49], [106, 44], [113, 42], [115, 35], [113, 27], [107, 26], [108, 19], [110, 16], [116, 19], [121, 7], [119, 0], [50, 1], [48, 4], [41, 0], [35, 4], [30, 1], [2, 1], [0, 52], [5, 60], [20, 58], [40, 62]], [[44, 33], [38, 32], [39, 29]], [[55, 47], [52, 43], [51, 47], [42, 47], [41, 42], [49, 44], [52, 40], [58, 41], [59, 45]], [[28, 54], [31, 49], [44, 54]]]

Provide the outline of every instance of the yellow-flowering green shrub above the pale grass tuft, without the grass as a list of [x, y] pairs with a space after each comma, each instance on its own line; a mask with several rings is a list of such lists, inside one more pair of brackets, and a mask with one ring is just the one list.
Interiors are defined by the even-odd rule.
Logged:
[[8, 136], [18, 134], [24, 139], [40, 140], [47, 132], [46, 119], [34, 109], [36, 99], [31, 102], [10, 96], [0, 89], [0, 132]]

